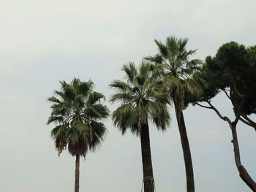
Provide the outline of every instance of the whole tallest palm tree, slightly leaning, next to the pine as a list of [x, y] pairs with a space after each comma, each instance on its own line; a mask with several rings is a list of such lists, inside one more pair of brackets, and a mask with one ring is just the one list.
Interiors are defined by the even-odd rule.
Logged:
[[200, 86], [192, 80], [192, 74], [200, 69], [202, 62], [198, 59], [189, 61], [189, 57], [193, 55], [196, 50], [187, 50], [187, 38], [177, 39], [176, 37], [167, 37], [165, 44], [157, 40], [154, 40], [154, 42], [157, 44], [159, 53], [154, 56], [148, 56], [145, 59], [153, 61], [162, 68], [162, 80], [166, 91], [173, 100], [176, 111], [186, 167], [187, 191], [192, 192], [195, 191], [194, 174], [189, 139], [187, 137], [182, 111], [185, 108], [186, 95], [200, 96], [202, 92]]

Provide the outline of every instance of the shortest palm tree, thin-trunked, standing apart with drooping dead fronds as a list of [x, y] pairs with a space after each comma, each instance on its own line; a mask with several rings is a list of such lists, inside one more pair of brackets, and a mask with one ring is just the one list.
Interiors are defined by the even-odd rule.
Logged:
[[54, 91], [48, 101], [52, 112], [47, 124], [56, 126], [51, 131], [56, 150], [66, 149], [75, 156], [75, 192], [79, 191], [80, 155], [94, 151], [104, 139], [107, 129], [99, 120], [108, 117], [108, 108], [100, 101], [102, 93], [93, 91], [93, 82], [81, 82], [74, 78], [70, 84], [61, 81], [61, 91]]

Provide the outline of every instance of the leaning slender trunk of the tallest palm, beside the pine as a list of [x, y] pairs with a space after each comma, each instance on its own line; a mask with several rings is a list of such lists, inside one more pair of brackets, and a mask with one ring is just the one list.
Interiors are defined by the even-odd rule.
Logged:
[[176, 110], [178, 130], [181, 136], [181, 145], [182, 145], [184, 161], [185, 161], [187, 191], [194, 192], [195, 191], [194, 172], [193, 172], [192, 158], [191, 158], [190, 147], [189, 147], [189, 139], [187, 137], [186, 125], [184, 122], [184, 116], [183, 116], [183, 112], [179, 110], [178, 104], [176, 102], [174, 102], [174, 106]]

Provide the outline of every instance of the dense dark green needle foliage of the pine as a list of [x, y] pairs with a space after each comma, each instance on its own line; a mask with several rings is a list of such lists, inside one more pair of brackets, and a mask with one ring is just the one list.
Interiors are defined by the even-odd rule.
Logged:
[[206, 101], [227, 88], [232, 92], [236, 86], [244, 96], [243, 113], [256, 112], [256, 46], [246, 48], [236, 42], [222, 45], [214, 58], [206, 58], [202, 72], [194, 76], [197, 77], [206, 80], [207, 86], [199, 100], [190, 101]]

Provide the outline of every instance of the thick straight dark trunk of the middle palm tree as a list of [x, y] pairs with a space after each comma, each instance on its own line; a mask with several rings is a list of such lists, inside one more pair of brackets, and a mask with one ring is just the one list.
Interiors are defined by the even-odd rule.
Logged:
[[140, 145], [143, 164], [144, 192], [154, 192], [153, 167], [151, 161], [150, 139], [147, 124], [143, 124], [141, 126]]

